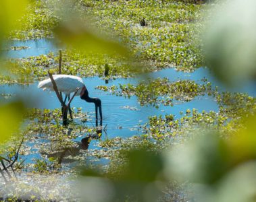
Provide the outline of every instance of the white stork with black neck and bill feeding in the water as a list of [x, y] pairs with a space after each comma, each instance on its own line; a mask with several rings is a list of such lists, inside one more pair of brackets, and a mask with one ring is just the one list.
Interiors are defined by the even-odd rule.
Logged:
[[[99, 115], [101, 117], [102, 121], [102, 112], [101, 112], [101, 100], [99, 98], [90, 98], [88, 96], [88, 90], [86, 89], [84, 82], [82, 81], [82, 78], [74, 76], [74, 75], [53, 75], [53, 79], [56, 83], [57, 89], [60, 92], [63, 92], [63, 94], [66, 95], [66, 98], [64, 102], [66, 102], [66, 99], [70, 100], [70, 94], [73, 92], [76, 92], [76, 88], [80, 88], [76, 94], [78, 96], [80, 94], [80, 98], [82, 100], [85, 100], [86, 102], [93, 102], [95, 103], [95, 114], [96, 114], [96, 120], [98, 119], [98, 108], [99, 108]], [[53, 90], [53, 83], [51, 82], [51, 79], [45, 79], [43, 81], [39, 82], [38, 88], [43, 88], [43, 90]], [[70, 110], [71, 115], [71, 110]]]

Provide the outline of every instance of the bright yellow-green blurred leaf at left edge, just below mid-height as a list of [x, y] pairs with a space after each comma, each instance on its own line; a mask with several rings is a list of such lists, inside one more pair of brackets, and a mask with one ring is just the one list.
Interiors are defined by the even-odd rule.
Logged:
[[22, 102], [12, 102], [0, 106], [0, 143], [18, 131], [23, 113]]

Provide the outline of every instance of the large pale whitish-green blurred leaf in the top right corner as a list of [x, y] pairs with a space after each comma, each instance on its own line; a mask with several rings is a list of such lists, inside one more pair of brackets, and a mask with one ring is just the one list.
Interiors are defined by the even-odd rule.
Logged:
[[205, 34], [207, 66], [234, 86], [255, 79], [256, 1], [224, 1], [211, 13]]

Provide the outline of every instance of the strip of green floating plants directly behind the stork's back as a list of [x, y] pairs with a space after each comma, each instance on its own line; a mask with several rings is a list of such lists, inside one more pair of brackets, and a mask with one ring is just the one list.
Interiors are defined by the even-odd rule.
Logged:
[[[105, 76], [105, 65], [108, 75]], [[10, 73], [8, 77], [0, 77], [1, 83], [30, 83], [48, 77], [47, 71], [57, 73], [59, 70], [59, 55], [49, 53], [37, 57], [11, 59], [8, 61]], [[78, 50], [62, 52], [61, 73], [78, 75], [80, 77], [99, 76], [104, 79], [117, 77], [132, 77], [134, 69], [122, 57], [108, 57], [106, 55], [92, 56], [90, 53], [81, 53]], [[143, 70], [142, 70], [143, 71]]]

